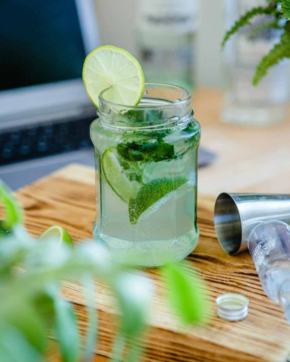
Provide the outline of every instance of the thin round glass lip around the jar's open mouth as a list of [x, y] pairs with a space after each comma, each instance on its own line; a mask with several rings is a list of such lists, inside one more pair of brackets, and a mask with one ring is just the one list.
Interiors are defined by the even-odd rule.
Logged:
[[[185, 99], [183, 100], [179, 100], [178, 102], [172, 102], [170, 104], [164, 104], [164, 105], [142, 105], [142, 104], [138, 104], [136, 106], [129, 106], [129, 105], [126, 105], [126, 104], [121, 104], [121, 103], [115, 103], [115, 102], [111, 102], [111, 101], [108, 101], [108, 100], [105, 100], [105, 98], [103, 97], [104, 93], [110, 89], [111, 87], [109, 88], [106, 88], [104, 90], [102, 90], [100, 93], [99, 93], [99, 102], [103, 103], [103, 104], [106, 104], [108, 106], [118, 106], [118, 107], [125, 107], [126, 109], [140, 109], [140, 108], [146, 108], [146, 109], [162, 109], [162, 108], [168, 108], [169, 106], [173, 106], [173, 107], [176, 107], [176, 106], [181, 106], [182, 104], [188, 102], [191, 100], [192, 98], [192, 94], [189, 90], [187, 90], [186, 88], [183, 88], [183, 87], [179, 87], [178, 85], [173, 85], [173, 84], [166, 84], [166, 83], [146, 83], [145, 82], [145, 88], [144, 88], [144, 93], [146, 92], [146, 88], [167, 88], [167, 89], [176, 89], [176, 90], [179, 90], [179, 91], [183, 91], [186, 95]], [[142, 95], [142, 98], [144, 97], [144, 94]], [[146, 94], [145, 94], [145, 97], [146, 97]]]

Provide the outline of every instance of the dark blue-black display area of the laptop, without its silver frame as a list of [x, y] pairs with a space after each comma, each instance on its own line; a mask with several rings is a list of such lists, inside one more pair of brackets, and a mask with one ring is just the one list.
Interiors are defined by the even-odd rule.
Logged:
[[1, 1], [0, 90], [80, 77], [85, 58], [73, 0]]

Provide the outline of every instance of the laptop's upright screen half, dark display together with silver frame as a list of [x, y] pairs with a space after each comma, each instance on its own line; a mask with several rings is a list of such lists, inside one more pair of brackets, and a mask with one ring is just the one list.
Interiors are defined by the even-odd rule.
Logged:
[[0, 24], [0, 131], [92, 105], [82, 67], [100, 45], [93, 0], [0, 1]]

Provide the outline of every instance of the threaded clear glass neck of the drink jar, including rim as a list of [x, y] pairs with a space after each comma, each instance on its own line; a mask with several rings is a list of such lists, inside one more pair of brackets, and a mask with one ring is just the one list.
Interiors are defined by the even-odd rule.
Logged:
[[99, 96], [100, 121], [120, 130], [159, 130], [185, 126], [192, 118], [191, 93], [174, 85], [145, 83], [137, 106], [105, 100], [107, 89]]

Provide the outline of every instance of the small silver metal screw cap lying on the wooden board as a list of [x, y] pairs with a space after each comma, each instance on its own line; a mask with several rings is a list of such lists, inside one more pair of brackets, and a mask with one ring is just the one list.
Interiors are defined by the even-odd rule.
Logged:
[[228, 293], [216, 298], [218, 316], [230, 320], [243, 320], [248, 315], [249, 299], [242, 294]]

